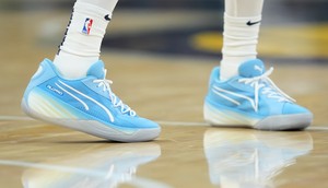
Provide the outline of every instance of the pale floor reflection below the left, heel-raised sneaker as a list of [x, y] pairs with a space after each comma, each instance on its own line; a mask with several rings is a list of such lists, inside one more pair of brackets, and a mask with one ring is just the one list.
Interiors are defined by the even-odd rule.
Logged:
[[[161, 148], [156, 143], [86, 148], [69, 156], [35, 164], [24, 172], [22, 181], [26, 188], [112, 188], [132, 184], [138, 178], [137, 167], [160, 155]], [[144, 179], [143, 184], [147, 184]]]

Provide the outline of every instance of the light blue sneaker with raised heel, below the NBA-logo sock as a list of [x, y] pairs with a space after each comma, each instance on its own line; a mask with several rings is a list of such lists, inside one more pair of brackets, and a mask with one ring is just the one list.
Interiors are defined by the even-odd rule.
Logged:
[[85, 78], [66, 80], [45, 59], [27, 85], [22, 108], [31, 117], [113, 141], [159, 137], [160, 126], [124, 104], [112, 92], [112, 83], [106, 80], [103, 61], [95, 62]]

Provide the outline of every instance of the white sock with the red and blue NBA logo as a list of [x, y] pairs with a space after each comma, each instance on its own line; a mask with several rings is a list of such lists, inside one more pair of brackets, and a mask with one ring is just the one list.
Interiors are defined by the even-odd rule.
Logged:
[[99, 59], [101, 45], [116, 3], [117, 0], [75, 2], [66, 36], [54, 60], [62, 77], [83, 78]]

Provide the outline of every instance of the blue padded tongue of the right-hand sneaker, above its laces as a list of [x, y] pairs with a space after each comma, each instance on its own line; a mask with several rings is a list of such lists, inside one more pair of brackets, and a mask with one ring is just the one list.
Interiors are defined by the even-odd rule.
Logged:
[[244, 78], [254, 78], [259, 77], [266, 72], [266, 67], [263, 62], [259, 59], [253, 59], [245, 61], [239, 67], [239, 75]]

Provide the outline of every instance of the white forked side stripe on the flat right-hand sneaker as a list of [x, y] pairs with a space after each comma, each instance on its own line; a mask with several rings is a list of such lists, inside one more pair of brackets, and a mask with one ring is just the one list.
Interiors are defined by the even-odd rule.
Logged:
[[255, 104], [255, 101], [254, 101], [253, 98], [246, 96], [246, 95], [242, 95], [242, 94], [238, 94], [238, 93], [234, 93], [234, 92], [231, 92], [231, 91], [221, 89], [221, 87], [219, 87], [219, 86], [216, 86], [216, 85], [213, 86], [212, 92], [213, 92], [214, 94], [216, 94], [218, 96], [220, 96], [220, 97], [222, 97], [222, 98], [224, 98], [224, 99], [226, 99], [226, 101], [230, 101], [231, 103], [233, 103], [233, 104], [235, 104], [235, 105], [237, 105], [237, 106], [242, 105], [242, 103], [239, 103], [238, 101], [236, 101], [236, 99], [230, 97], [229, 95], [235, 96], [235, 97], [239, 97], [239, 98], [243, 98], [243, 99], [246, 99], [246, 101], [248, 101], [248, 102], [250, 103], [250, 105], [251, 105], [251, 107], [254, 108], [254, 110], [256, 110], [256, 104]]

